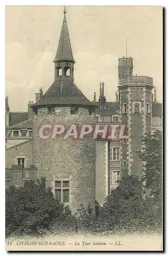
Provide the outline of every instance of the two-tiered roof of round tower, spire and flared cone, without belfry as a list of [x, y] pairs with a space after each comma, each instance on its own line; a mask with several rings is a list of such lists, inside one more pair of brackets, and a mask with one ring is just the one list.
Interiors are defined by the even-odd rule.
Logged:
[[[64, 10], [63, 26], [54, 62], [73, 61], [74, 63], [65, 13], [66, 11]], [[95, 106], [95, 103], [87, 99], [87, 97], [85, 97], [85, 95], [83, 95], [82, 92], [77, 88], [73, 81], [73, 76], [62, 75], [55, 77], [55, 81], [52, 83], [51, 87], [32, 106], [32, 108], [46, 105]]]

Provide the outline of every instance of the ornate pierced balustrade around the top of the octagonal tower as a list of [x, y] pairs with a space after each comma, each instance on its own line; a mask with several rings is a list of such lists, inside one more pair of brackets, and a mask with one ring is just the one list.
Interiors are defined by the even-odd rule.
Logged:
[[147, 84], [153, 86], [153, 78], [149, 76], [126, 76], [119, 78], [119, 86], [125, 84]]

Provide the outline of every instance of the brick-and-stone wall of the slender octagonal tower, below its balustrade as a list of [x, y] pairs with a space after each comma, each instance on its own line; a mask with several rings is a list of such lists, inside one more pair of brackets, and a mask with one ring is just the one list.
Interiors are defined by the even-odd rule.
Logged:
[[[126, 93], [127, 90], [127, 93]], [[142, 176], [142, 161], [137, 151], [142, 149], [142, 138], [151, 131], [151, 89], [148, 87], [125, 86], [120, 89], [120, 100], [122, 111], [123, 103], [127, 103], [127, 114], [121, 114], [122, 124], [128, 127], [127, 145], [122, 145], [122, 159], [127, 155], [128, 174]], [[140, 113], [133, 113], [134, 102], [139, 102]], [[150, 113], [147, 114], [147, 103], [150, 104]]]

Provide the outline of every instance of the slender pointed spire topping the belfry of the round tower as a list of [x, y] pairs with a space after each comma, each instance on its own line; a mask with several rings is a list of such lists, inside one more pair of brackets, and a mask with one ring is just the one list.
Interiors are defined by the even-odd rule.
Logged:
[[60, 34], [59, 46], [53, 62], [61, 61], [61, 60], [73, 61], [75, 63], [72, 55], [71, 43], [70, 43], [70, 38], [68, 33], [65, 7], [64, 7], [64, 19], [63, 19], [63, 25], [62, 25], [61, 34]]

